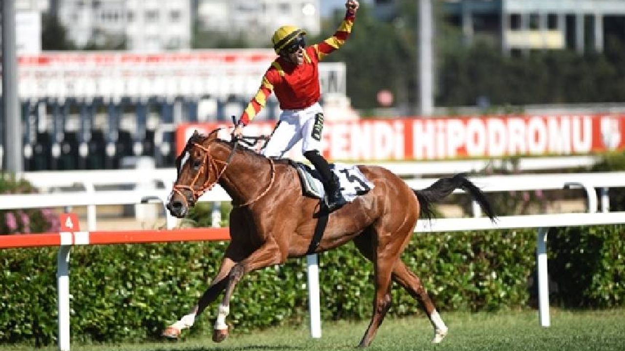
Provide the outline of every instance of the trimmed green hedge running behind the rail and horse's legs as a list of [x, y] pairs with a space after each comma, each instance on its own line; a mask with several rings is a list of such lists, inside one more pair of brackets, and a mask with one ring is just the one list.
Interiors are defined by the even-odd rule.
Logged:
[[[552, 230], [549, 272], [564, 306], [622, 306], [623, 226]], [[440, 310], [526, 307], [535, 288], [533, 230], [414, 235], [402, 258]], [[158, 337], [216, 274], [226, 242], [78, 246], [71, 251], [71, 335], [80, 342]], [[56, 248], [0, 250], [0, 344], [56, 342]], [[320, 258], [322, 318], [369, 319], [372, 265], [348, 244]], [[420, 312], [400, 287], [392, 315]], [[209, 332], [217, 304], [191, 334]], [[304, 259], [253, 272], [237, 285], [228, 322], [237, 330], [307, 320]]]

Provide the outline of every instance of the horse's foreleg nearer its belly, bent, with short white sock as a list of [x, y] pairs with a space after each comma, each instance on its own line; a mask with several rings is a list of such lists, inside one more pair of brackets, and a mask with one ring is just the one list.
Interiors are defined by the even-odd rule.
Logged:
[[214, 342], [222, 342], [228, 336], [226, 317], [230, 313], [230, 299], [232, 298], [234, 287], [236, 287], [236, 284], [241, 280], [243, 275], [252, 270], [261, 269], [269, 265], [281, 264], [285, 259], [286, 256], [282, 257], [276, 242], [271, 240], [261, 245], [261, 247], [252, 252], [246, 259], [232, 267], [227, 278], [224, 298], [221, 300], [221, 304], [219, 304], [217, 309], [217, 320], [215, 321], [212, 333], [212, 340]]

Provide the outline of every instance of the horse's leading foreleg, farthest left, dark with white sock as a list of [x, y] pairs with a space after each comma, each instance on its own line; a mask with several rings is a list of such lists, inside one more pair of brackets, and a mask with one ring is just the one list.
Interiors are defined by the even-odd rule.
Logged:
[[169, 325], [165, 330], [163, 330], [163, 336], [176, 339], [180, 336], [180, 333], [183, 329], [191, 328], [195, 322], [196, 316], [201, 314], [206, 306], [210, 304], [212, 301], [217, 299], [217, 295], [224, 290], [227, 282], [227, 275], [230, 273], [230, 270], [236, 262], [230, 259], [229, 257], [224, 257], [221, 262], [221, 267], [219, 267], [219, 272], [214, 277], [209, 285], [208, 289], [202, 294], [202, 297], [197, 301], [197, 304], [192, 307], [188, 314], [184, 315], [181, 319], [175, 322], [172, 325]]

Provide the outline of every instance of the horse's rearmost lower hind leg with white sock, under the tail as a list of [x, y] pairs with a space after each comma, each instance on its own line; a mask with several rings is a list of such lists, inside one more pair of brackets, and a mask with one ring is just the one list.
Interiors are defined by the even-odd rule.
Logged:
[[426, 289], [421, 284], [421, 280], [416, 274], [412, 273], [404, 262], [397, 260], [395, 267], [392, 271], [392, 279], [404, 287], [415, 299], [421, 302], [421, 305], [426, 310], [427, 317], [429, 318], [432, 327], [434, 327], [434, 339], [432, 342], [438, 344], [447, 335], [447, 325], [442, 322], [441, 316], [436, 311], [434, 303], [427, 295]]

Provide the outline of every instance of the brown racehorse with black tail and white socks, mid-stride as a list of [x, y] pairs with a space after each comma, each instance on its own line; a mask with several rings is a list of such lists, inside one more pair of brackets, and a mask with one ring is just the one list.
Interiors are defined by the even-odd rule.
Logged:
[[[226, 339], [230, 299], [242, 275], [283, 264], [289, 257], [302, 257], [309, 249], [319, 200], [302, 195], [297, 171], [289, 162], [268, 159], [237, 145], [217, 139], [217, 131], [208, 136], [196, 132], [176, 159], [178, 179], [167, 205], [172, 215], [184, 217], [197, 198], [217, 183], [232, 198], [233, 209], [231, 241], [217, 276], [189, 314], [163, 331], [166, 337], [179, 337], [181, 330], [191, 327], [196, 316], [225, 289], [212, 339]], [[424, 190], [412, 190], [404, 180], [382, 167], [359, 169], [374, 184], [373, 189], [329, 214], [316, 249], [323, 252], [353, 240], [362, 255], [373, 262], [373, 315], [359, 346], [371, 344], [391, 307], [391, 279], [421, 302], [434, 327], [432, 342], [441, 342], [447, 335], [447, 326], [419, 277], [407, 269], [399, 256], [411, 239], [419, 214], [429, 218], [431, 204], [454, 189], [466, 190], [494, 220], [491, 206], [481, 190], [461, 174], [439, 179]]]

